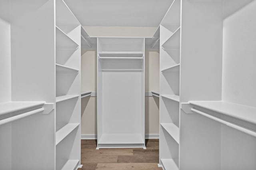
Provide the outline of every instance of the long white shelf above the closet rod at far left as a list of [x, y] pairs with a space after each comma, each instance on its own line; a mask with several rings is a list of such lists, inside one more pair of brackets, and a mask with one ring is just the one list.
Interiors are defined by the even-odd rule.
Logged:
[[40, 102], [26, 102], [26, 101], [9, 101], [0, 103], [0, 115], [5, 115], [32, 107], [43, 107], [44, 101]]

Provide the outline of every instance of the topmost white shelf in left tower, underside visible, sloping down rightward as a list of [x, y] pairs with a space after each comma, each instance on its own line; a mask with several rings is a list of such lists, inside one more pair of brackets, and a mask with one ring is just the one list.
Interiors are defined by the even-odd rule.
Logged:
[[79, 45], [74, 42], [65, 32], [56, 26], [56, 49], [76, 50]]

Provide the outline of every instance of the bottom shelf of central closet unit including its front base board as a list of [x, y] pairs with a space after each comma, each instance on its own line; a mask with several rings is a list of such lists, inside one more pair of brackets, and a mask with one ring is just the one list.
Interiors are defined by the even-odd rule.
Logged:
[[104, 133], [98, 138], [99, 147], [144, 147], [145, 139], [140, 133]]

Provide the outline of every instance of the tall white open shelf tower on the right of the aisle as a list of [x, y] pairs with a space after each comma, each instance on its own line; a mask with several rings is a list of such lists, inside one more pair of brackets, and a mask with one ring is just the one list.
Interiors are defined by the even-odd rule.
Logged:
[[180, 140], [180, 10], [174, 0], [160, 23], [159, 165], [179, 167]]

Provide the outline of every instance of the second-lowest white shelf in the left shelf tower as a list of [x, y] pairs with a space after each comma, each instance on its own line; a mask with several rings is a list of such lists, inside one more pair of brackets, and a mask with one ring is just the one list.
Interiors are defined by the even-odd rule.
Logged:
[[56, 132], [56, 145], [59, 144], [68, 134], [70, 134], [76, 127], [79, 126], [79, 123], [68, 123], [60, 130]]

